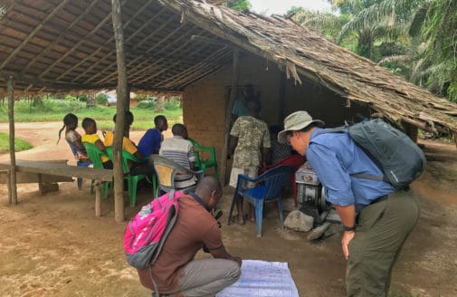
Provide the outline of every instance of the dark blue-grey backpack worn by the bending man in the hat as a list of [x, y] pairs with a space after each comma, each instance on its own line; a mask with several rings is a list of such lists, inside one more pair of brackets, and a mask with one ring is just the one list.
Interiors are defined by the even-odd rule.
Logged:
[[367, 174], [355, 177], [384, 180], [395, 189], [407, 189], [425, 168], [425, 156], [413, 140], [381, 119], [365, 120], [354, 125], [324, 129], [319, 134], [347, 132], [384, 174], [377, 177]]

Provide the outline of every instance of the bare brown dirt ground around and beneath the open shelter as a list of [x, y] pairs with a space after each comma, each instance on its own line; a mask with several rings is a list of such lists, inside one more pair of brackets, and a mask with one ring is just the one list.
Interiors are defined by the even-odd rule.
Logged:
[[[73, 162], [66, 142], [55, 144], [60, 128], [60, 122], [17, 123], [16, 137], [28, 140], [34, 148], [17, 153], [16, 158], [68, 158]], [[0, 131], [7, 132], [8, 125], [0, 124]], [[142, 134], [134, 131], [131, 136], [138, 140]], [[421, 197], [422, 214], [395, 265], [391, 293], [456, 296], [457, 149], [453, 144], [421, 142], [428, 163], [412, 188]], [[0, 155], [0, 161], [8, 159], [9, 154]], [[40, 196], [36, 184], [20, 184], [18, 205], [8, 206], [6, 186], [0, 185], [1, 295], [150, 296], [125, 261], [125, 223], [114, 221], [112, 194], [102, 201], [102, 216], [97, 218], [89, 181], [85, 180], [81, 191], [75, 182], [59, 186], [59, 192]], [[263, 236], [257, 238], [252, 223], [226, 225], [232, 195], [233, 190], [225, 187], [221, 206], [224, 244], [231, 254], [289, 263], [300, 296], [345, 295], [339, 233], [309, 242], [306, 233], [281, 230], [271, 208], [263, 221]], [[138, 206], [131, 208], [126, 193], [126, 219], [151, 197], [149, 188], [140, 189]], [[285, 198], [286, 213], [293, 209], [291, 200]]]

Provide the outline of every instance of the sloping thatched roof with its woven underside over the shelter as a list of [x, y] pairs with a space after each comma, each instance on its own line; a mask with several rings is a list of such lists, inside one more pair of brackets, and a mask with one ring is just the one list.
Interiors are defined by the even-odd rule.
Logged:
[[[0, 88], [8, 75], [23, 91], [117, 85], [109, 0], [6, 1]], [[299, 83], [315, 81], [389, 120], [457, 132], [456, 104], [279, 16], [237, 13], [204, 0], [124, 1], [122, 14], [132, 91], [182, 91], [230, 63], [238, 47], [276, 62]]]

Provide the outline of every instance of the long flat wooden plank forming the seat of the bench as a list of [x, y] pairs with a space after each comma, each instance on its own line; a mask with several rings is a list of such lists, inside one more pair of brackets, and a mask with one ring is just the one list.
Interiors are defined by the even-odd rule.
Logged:
[[[8, 162], [1, 162], [0, 169], [10, 168]], [[81, 168], [65, 164], [53, 164], [43, 161], [16, 160], [16, 170], [19, 172], [33, 172], [52, 176], [82, 177], [102, 181], [112, 181], [111, 169]]]

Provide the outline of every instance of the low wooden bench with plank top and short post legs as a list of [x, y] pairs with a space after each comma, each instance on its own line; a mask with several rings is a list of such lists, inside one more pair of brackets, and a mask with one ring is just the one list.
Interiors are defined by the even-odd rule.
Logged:
[[[10, 183], [10, 162], [0, 162], [0, 171], [6, 173], [8, 178], [8, 184]], [[93, 179], [95, 183], [95, 216], [101, 215], [101, 183], [104, 181], [113, 180], [112, 169], [100, 169], [100, 168], [82, 168], [76, 166], [70, 166], [62, 162], [56, 161], [29, 161], [29, 160], [16, 160], [16, 171], [34, 173], [40, 187], [40, 193], [43, 195], [43, 180], [51, 179], [56, 180], [52, 177], [82, 177], [87, 179]], [[29, 177], [30, 178], [30, 177]], [[58, 180], [58, 179], [57, 179]], [[27, 182], [27, 181], [26, 181]], [[28, 181], [31, 182], [31, 181]], [[33, 181], [32, 181], [33, 182]]]

